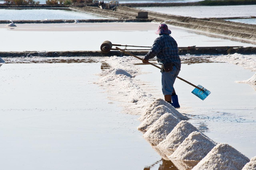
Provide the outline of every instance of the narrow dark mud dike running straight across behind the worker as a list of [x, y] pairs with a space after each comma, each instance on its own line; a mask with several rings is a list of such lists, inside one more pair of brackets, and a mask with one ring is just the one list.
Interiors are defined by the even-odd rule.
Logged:
[[[148, 50], [129, 51], [134, 55], [146, 55]], [[181, 48], [179, 55], [226, 55], [226, 54], [256, 54], [256, 47], [239, 47], [239, 48]], [[105, 57], [105, 56], [127, 56], [127, 54], [117, 50], [111, 50], [109, 53], [101, 51], [60, 51], [60, 52], [0, 52], [0, 56], [4, 57]]]

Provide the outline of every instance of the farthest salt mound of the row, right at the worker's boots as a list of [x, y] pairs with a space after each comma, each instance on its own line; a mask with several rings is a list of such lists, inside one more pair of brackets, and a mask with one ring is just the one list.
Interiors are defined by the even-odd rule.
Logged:
[[166, 106], [169, 109], [169, 111], [167, 112], [172, 113], [174, 116], [178, 117], [180, 120], [188, 120], [187, 116], [179, 113], [171, 104], [167, 103], [165, 100], [156, 99], [153, 103], [149, 105], [147, 111], [140, 116], [139, 121], [142, 122], [143, 120], [145, 120], [148, 117], [148, 115], [152, 114], [154, 108], [159, 105]]

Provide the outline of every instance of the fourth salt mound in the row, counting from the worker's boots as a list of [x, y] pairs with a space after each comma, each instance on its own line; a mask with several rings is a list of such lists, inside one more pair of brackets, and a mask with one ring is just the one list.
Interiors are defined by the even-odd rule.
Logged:
[[[188, 121], [181, 121], [175, 126], [171, 133], [167, 135], [165, 140], [157, 145], [157, 148], [176, 150], [191, 132], [199, 131]], [[168, 155], [169, 156], [169, 155]]]

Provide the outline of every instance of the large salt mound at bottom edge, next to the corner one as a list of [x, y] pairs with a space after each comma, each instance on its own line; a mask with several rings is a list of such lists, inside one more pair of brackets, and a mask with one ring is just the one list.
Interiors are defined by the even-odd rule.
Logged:
[[193, 170], [218, 169], [218, 170], [241, 170], [249, 158], [241, 154], [235, 148], [226, 143], [215, 146]]

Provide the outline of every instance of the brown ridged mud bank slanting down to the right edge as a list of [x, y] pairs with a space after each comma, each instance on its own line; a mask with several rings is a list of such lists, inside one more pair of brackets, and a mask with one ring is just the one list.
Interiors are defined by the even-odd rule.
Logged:
[[253, 24], [224, 21], [217, 18], [198, 19], [187, 16], [162, 14], [127, 6], [118, 6], [117, 11], [102, 10], [92, 6], [72, 6], [70, 8], [73, 10], [99, 14], [117, 19], [135, 19], [136, 16], [138, 16], [138, 12], [148, 12], [148, 19], [153, 22], [165, 22], [166, 24], [174, 25], [177, 27], [214, 33], [227, 39], [239, 38], [240, 40], [238, 41], [245, 41], [247, 43], [256, 44], [256, 28]]

